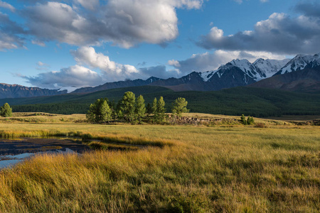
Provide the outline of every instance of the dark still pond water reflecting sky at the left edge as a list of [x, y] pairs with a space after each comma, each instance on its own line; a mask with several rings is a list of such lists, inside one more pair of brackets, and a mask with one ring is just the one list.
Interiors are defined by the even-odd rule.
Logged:
[[71, 138], [0, 138], [0, 169], [41, 153], [66, 154], [90, 151], [81, 141]]

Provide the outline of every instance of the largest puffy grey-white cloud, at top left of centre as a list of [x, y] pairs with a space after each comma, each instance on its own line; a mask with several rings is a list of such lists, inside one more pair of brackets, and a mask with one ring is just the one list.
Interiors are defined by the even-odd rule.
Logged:
[[86, 13], [68, 4], [43, 2], [28, 6], [23, 14], [38, 40], [58, 40], [71, 45], [111, 42], [123, 48], [138, 43], [164, 44], [178, 35], [177, 8], [199, 9], [203, 0], [75, 0]]

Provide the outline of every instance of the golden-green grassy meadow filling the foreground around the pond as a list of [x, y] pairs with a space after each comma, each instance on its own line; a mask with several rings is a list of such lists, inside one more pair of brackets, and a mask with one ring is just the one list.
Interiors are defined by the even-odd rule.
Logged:
[[144, 148], [37, 155], [1, 170], [0, 212], [320, 212], [320, 126], [84, 119], [15, 114], [0, 119], [0, 135], [80, 136]]

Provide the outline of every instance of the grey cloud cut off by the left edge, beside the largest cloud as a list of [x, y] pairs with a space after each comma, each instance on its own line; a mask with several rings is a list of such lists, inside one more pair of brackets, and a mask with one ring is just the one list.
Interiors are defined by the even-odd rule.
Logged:
[[21, 34], [25, 34], [23, 28], [0, 12], [0, 51], [23, 47]]

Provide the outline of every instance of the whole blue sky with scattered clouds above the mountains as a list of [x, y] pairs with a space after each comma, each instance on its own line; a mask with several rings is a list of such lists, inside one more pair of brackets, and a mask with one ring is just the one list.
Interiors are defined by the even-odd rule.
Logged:
[[0, 0], [1, 83], [60, 89], [320, 52], [320, 1]]

